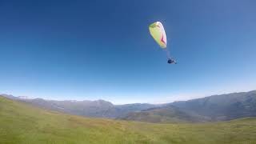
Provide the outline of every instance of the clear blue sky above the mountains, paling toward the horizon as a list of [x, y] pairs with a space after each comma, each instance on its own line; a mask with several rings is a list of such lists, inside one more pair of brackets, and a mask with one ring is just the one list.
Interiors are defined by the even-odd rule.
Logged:
[[[256, 89], [256, 1], [0, 1], [0, 93], [114, 103]], [[150, 37], [161, 21], [178, 65]]]

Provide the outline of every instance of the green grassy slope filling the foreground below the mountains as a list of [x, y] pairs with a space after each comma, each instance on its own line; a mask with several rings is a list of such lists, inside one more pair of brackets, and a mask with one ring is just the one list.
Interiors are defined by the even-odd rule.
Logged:
[[153, 124], [82, 118], [0, 97], [0, 143], [255, 143], [256, 118]]

